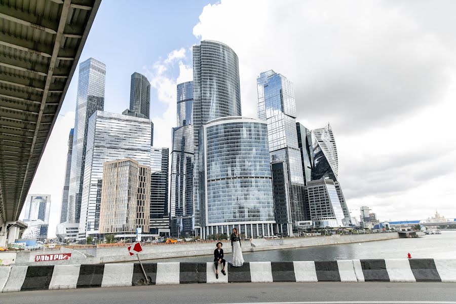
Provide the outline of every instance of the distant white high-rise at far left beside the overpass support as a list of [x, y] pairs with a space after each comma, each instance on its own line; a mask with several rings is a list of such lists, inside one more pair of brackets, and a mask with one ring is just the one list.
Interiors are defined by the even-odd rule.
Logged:
[[23, 239], [45, 240], [48, 237], [49, 213], [51, 211], [51, 195], [29, 194], [25, 200], [23, 221], [27, 229]]

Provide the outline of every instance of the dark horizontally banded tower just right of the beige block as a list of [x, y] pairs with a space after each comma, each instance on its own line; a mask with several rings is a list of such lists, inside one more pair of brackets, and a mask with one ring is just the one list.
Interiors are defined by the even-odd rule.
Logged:
[[169, 234], [168, 175], [169, 148], [150, 148], [149, 234]]

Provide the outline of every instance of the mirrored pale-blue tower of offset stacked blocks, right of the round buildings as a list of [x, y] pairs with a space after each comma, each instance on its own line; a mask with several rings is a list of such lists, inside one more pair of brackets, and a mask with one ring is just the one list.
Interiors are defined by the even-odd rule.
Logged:
[[[283, 75], [269, 70], [260, 73], [257, 79], [257, 89], [258, 118], [268, 123], [271, 162], [283, 161], [282, 166], [287, 172], [288, 194], [275, 191], [274, 199], [286, 202], [286, 208], [290, 212], [284, 213], [287, 215], [286, 218], [278, 217], [276, 221], [280, 226], [280, 231], [293, 235], [295, 223], [307, 219], [304, 197], [305, 180], [302, 175], [301, 152], [296, 132], [293, 86]], [[278, 184], [284, 183], [276, 183], [274, 180], [273, 185]]]

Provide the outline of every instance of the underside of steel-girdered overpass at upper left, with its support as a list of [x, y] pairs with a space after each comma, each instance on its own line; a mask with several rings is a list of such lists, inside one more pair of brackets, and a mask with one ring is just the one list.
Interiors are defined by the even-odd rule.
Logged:
[[0, 5], [0, 246], [18, 221], [101, 0]]

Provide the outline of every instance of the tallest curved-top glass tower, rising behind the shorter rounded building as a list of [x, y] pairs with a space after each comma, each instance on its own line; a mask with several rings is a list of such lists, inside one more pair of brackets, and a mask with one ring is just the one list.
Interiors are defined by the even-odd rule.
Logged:
[[[193, 47], [193, 126], [195, 143], [194, 205], [195, 229], [199, 223], [198, 133], [208, 121], [241, 116], [239, 60], [227, 45], [201, 41]], [[199, 231], [197, 234], [200, 234]]]

